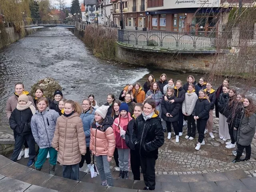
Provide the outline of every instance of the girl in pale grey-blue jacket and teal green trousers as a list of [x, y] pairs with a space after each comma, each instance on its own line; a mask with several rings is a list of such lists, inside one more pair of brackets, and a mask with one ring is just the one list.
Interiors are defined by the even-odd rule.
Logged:
[[32, 134], [39, 146], [39, 154], [37, 156], [35, 168], [36, 170], [41, 170], [49, 152], [49, 174], [54, 174], [57, 151], [52, 148], [52, 139], [59, 114], [55, 110], [49, 109], [48, 100], [45, 97], [39, 98], [36, 101], [36, 106], [38, 110], [36, 110], [36, 114], [31, 118]]

